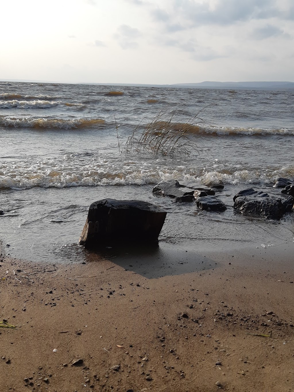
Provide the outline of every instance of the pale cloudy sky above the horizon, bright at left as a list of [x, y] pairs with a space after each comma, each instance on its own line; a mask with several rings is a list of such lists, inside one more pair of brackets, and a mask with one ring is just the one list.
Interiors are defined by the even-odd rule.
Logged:
[[294, 0], [0, 0], [0, 80], [294, 82]]

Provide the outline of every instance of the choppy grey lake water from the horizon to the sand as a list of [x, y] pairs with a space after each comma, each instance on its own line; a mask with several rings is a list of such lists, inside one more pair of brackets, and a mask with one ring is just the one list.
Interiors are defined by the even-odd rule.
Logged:
[[[232, 196], [249, 184], [294, 180], [293, 99], [294, 92], [0, 82], [0, 236], [11, 254], [78, 260], [89, 204], [114, 197], [167, 208], [160, 241], [179, 247], [292, 240], [292, 214], [281, 223], [243, 218]], [[119, 152], [116, 125], [122, 148], [160, 111], [160, 120], [192, 121], [198, 152]], [[152, 186], [170, 178], [223, 181], [228, 210], [199, 212], [153, 196]]]

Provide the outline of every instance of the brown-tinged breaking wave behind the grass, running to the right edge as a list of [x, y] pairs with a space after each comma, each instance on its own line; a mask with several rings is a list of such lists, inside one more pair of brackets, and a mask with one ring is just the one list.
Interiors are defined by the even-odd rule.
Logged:
[[154, 133], [160, 132], [168, 127], [170, 130], [183, 130], [186, 134], [211, 134], [219, 136], [227, 135], [246, 135], [246, 136], [269, 136], [269, 135], [290, 135], [294, 136], [294, 128], [242, 128], [242, 127], [218, 127], [215, 125], [205, 125], [191, 123], [171, 123], [167, 121], [158, 121], [152, 123]]

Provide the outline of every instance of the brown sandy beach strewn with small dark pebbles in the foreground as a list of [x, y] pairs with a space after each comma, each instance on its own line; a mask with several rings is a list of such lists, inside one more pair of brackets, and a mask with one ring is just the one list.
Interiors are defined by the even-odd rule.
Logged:
[[0, 317], [19, 327], [0, 328], [0, 391], [293, 391], [293, 250], [50, 265], [3, 247]]

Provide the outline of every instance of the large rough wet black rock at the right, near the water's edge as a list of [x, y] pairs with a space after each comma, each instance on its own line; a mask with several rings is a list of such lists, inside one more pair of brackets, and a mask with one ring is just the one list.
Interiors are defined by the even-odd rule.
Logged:
[[274, 220], [279, 220], [283, 214], [290, 212], [294, 204], [292, 196], [287, 198], [269, 196], [265, 192], [257, 192], [252, 188], [238, 192], [233, 200], [234, 209], [241, 214]]

